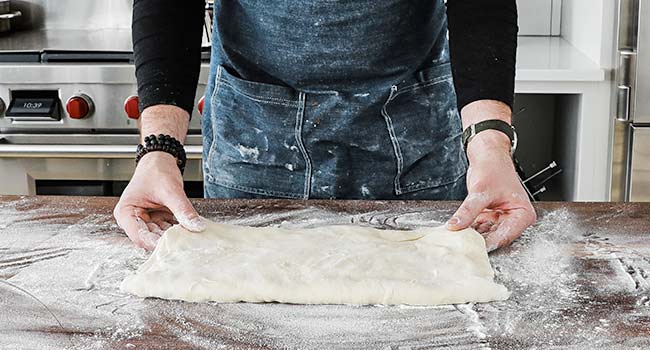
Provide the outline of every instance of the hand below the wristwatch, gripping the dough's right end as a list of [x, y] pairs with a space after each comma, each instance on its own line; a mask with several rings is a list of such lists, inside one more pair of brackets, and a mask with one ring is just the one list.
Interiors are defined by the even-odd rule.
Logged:
[[468, 196], [447, 222], [456, 231], [473, 227], [488, 251], [509, 245], [537, 219], [510, 156], [510, 140], [499, 131], [477, 134], [467, 149]]

